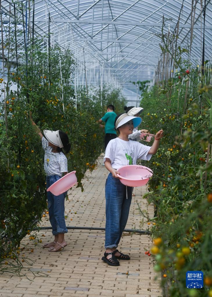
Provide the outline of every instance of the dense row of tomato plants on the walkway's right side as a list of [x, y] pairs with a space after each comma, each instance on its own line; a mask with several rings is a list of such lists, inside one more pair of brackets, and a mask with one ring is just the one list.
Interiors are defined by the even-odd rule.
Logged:
[[190, 85], [178, 83], [178, 71], [172, 83], [142, 94], [142, 127], [153, 134], [163, 129], [164, 137], [150, 161], [139, 161], [154, 173], [144, 198], [154, 204], [155, 216], [141, 213], [154, 222], [151, 252], [162, 285], [168, 279], [168, 296], [188, 296], [186, 271], [201, 270], [206, 280], [198, 296], [206, 297], [212, 287], [212, 86], [207, 71], [202, 77], [189, 68]]

